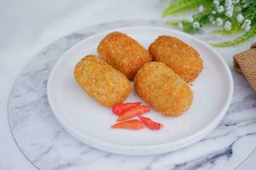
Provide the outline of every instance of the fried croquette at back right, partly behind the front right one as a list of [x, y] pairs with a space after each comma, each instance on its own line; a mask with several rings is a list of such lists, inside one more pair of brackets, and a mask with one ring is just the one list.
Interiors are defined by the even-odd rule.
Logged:
[[203, 69], [200, 54], [177, 37], [160, 36], [148, 51], [154, 61], [164, 62], [186, 82], [193, 82]]

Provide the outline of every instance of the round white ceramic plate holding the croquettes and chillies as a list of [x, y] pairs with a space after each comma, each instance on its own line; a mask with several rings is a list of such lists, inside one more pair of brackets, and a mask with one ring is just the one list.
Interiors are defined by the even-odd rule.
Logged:
[[[196, 48], [204, 61], [204, 70], [192, 82], [195, 98], [182, 116], [166, 117], [156, 111], [147, 114], [164, 127], [132, 131], [112, 129], [116, 116], [84, 93], [73, 78], [76, 63], [87, 54], [97, 54], [98, 43], [109, 32], [122, 31], [145, 48], [160, 35], [180, 38]], [[61, 125], [75, 138], [100, 150], [124, 155], [153, 155], [177, 150], [202, 139], [224, 117], [233, 94], [233, 80], [224, 59], [206, 43], [180, 31], [152, 26], [132, 26], [102, 32], [70, 48], [57, 61], [47, 84], [49, 105]], [[142, 101], [134, 91], [125, 102]]]

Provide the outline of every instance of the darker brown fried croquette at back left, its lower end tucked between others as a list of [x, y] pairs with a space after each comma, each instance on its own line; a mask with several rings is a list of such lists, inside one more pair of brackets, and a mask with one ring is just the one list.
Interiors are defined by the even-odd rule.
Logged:
[[130, 80], [133, 80], [137, 71], [151, 60], [148, 50], [139, 42], [117, 31], [104, 37], [97, 51], [102, 59]]

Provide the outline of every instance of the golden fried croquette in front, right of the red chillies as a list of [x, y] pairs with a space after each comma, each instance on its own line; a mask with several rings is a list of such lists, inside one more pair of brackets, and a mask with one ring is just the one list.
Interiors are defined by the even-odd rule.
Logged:
[[164, 116], [180, 116], [189, 109], [193, 92], [187, 82], [161, 62], [150, 62], [134, 78], [137, 94]]

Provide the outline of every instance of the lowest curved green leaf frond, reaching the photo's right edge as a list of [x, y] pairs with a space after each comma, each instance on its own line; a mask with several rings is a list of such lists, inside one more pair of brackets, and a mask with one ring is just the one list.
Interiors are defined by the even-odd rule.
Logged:
[[250, 31], [247, 31], [245, 34], [241, 35], [240, 37], [236, 37], [235, 40], [228, 41], [228, 42], [220, 42], [220, 43], [212, 43], [213, 47], [228, 47], [237, 45], [241, 42], [246, 42], [248, 39], [253, 37], [256, 33], [256, 25], [252, 27]]

